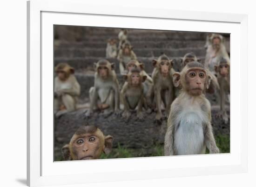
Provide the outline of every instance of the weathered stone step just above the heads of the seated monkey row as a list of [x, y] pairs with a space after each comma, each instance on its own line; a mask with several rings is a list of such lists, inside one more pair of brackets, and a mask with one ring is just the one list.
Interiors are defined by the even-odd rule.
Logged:
[[[205, 48], [202, 47], [187, 47], [179, 49], [167, 49], [167, 48], [144, 48], [144, 49], [134, 49], [134, 52], [137, 56], [143, 57], [158, 57], [162, 53], [165, 53], [168, 56], [183, 56], [186, 53], [194, 52], [197, 56], [205, 56]], [[106, 56], [105, 48], [56, 48], [54, 50], [54, 57], [62, 58], [74, 58], [74, 57], [87, 57], [95, 56], [102, 57]]]

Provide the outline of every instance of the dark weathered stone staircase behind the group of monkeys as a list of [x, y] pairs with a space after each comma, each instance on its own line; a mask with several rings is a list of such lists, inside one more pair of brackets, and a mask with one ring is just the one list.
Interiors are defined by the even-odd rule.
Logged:
[[[105, 58], [107, 40], [118, 40], [119, 28], [105, 27], [74, 27], [55, 26], [54, 65], [67, 62], [75, 68], [75, 75], [81, 84], [80, 102], [88, 100], [88, 90], [94, 84], [94, 62]], [[59, 31], [59, 32], [58, 32]], [[61, 34], [62, 33], [62, 34]], [[66, 36], [65, 36], [66, 34]], [[70, 36], [75, 35], [75, 38]], [[68, 37], [69, 36], [69, 37]], [[224, 35], [226, 47], [229, 50], [229, 35]], [[145, 64], [145, 71], [153, 71], [152, 60], [162, 53], [175, 60], [175, 70], [180, 69], [180, 59], [184, 54], [194, 52], [202, 62], [205, 57], [206, 33], [177, 32], [161, 30], [128, 29], [128, 40], [134, 52]], [[108, 59], [115, 63], [115, 72], [122, 85], [122, 76], [119, 73], [117, 59]]]

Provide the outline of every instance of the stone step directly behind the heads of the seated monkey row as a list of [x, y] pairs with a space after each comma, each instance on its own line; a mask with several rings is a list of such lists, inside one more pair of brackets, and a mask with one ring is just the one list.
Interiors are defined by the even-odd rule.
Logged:
[[[180, 65], [181, 65], [181, 58], [182, 57], [174, 57], [170, 59], [174, 59], [175, 63], [174, 63], [174, 69], [176, 71], [180, 70]], [[204, 56], [202, 57], [198, 57], [202, 60], [202, 62], [204, 62]], [[84, 72], [84, 71], [88, 71], [88, 70], [92, 70], [94, 71], [93, 65], [94, 62], [97, 62], [98, 60], [102, 59], [101, 57], [76, 57], [76, 58], [54, 58], [54, 66], [56, 66], [58, 63], [61, 62], [67, 62], [70, 66], [75, 68], [76, 72]], [[138, 57], [138, 60], [140, 60], [141, 62], [144, 63], [145, 65], [145, 71], [147, 73], [152, 73], [153, 71], [153, 66], [152, 66], [152, 60], [157, 59], [157, 57]], [[109, 58], [107, 59], [109, 60], [111, 63], [115, 63], [115, 72], [119, 73], [119, 61], [117, 59], [114, 58]]]

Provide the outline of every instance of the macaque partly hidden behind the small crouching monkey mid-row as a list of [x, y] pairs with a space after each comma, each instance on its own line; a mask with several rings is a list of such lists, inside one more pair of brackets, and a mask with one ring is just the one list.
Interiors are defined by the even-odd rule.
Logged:
[[[152, 95], [152, 88], [153, 88], [153, 79], [148, 75], [148, 73], [145, 72], [144, 70], [144, 64], [142, 62], [139, 62], [138, 60], [131, 60], [127, 64], [127, 71], [129, 72], [132, 68], [137, 67], [141, 70], [141, 75], [146, 76], [147, 79], [145, 82], [143, 82], [143, 95], [144, 98], [146, 99], [145, 105], [149, 106], [152, 105], [153, 102], [153, 95]], [[150, 110], [151, 111], [151, 110]]]

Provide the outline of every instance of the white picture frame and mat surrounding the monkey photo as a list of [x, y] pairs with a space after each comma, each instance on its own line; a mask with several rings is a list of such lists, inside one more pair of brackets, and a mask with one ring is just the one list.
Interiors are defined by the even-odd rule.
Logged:
[[[28, 186], [247, 172], [247, 15], [31, 0], [27, 23]], [[54, 63], [54, 24], [230, 33], [230, 154], [54, 162], [53, 76], [48, 76]]]

